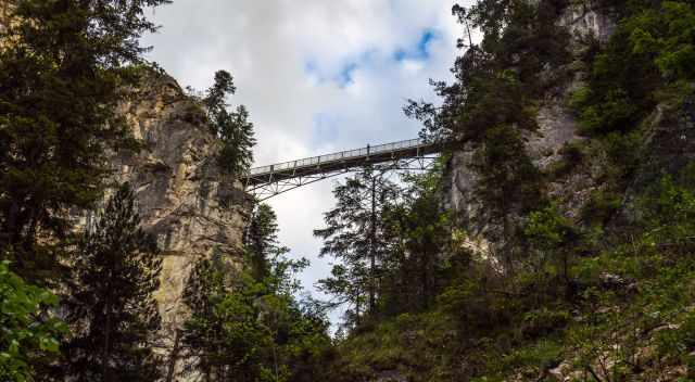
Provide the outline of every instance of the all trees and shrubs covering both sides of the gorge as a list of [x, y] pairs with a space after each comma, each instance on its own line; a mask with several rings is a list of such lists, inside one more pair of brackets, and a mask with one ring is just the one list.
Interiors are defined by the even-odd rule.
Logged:
[[[70, 212], [99, 209], [106, 151], [138, 148], [115, 110], [143, 67], [138, 37], [155, 29], [143, 8], [166, 2], [10, 1], [0, 379], [695, 380], [693, 1], [455, 5], [466, 31], [455, 80], [434, 84], [441, 107], [405, 109], [452, 152], [400, 182], [368, 168], [336, 188], [315, 231], [338, 260], [320, 282], [334, 300], [296, 296], [306, 262], [286, 257], [275, 213], [256, 205], [239, 262], [200, 254], [190, 317], [162, 355], [161, 258], [132, 191], [117, 191], [81, 235]], [[573, 36], [571, 10], [615, 30]], [[211, 163], [231, 177], [254, 144], [247, 110], [228, 111], [235, 91], [220, 71], [198, 98], [218, 138]], [[529, 142], [551, 101], [579, 128], [547, 164]], [[460, 152], [475, 175], [468, 216], [442, 202]], [[338, 305], [348, 309], [331, 339], [325, 315]]]

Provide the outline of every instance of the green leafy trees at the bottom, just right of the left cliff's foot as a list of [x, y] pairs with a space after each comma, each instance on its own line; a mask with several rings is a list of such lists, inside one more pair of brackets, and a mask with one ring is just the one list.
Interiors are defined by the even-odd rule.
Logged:
[[251, 226], [247, 267], [233, 269], [217, 252], [200, 260], [188, 281], [185, 372], [202, 372], [206, 380], [319, 380], [330, 348], [328, 323], [323, 310], [294, 297], [293, 275], [307, 262], [283, 257], [267, 205], [257, 207]]

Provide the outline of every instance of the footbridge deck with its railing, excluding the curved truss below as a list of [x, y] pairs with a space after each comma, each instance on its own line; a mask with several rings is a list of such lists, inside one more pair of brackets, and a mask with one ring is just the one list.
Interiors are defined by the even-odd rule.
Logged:
[[440, 151], [440, 144], [428, 143], [421, 139], [409, 139], [372, 147], [367, 145], [356, 150], [254, 167], [249, 171], [247, 184], [253, 187], [282, 179], [363, 167], [368, 164], [419, 157]]

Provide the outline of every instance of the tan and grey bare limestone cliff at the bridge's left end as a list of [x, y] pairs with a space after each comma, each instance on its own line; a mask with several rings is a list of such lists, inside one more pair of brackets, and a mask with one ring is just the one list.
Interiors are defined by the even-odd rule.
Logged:
[[219, 145], [203, 110], [174, 79], [150, 75], [132, 96], [119, 112], [144, 149], [113, 155], [114, 180], [130, 182], [142, 226], [156, 237], [164, 256], [156, 300], [163, 319], [160, 346], [168, 354], [187, 318], [181, 292], [194, 262], [214, 250], [241, 262], [236, 255], [249, 199], [238, 181], [219, 174]]

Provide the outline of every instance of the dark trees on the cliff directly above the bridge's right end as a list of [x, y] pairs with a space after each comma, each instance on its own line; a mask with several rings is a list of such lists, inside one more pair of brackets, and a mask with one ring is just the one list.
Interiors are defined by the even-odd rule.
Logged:
[[[570, 60], [569, 34], [555, 23], [567, 5], [561, 0], [538, 2], [481, 0], [452, 12], [466, 28], [465, 48], [456, 59], [452, 84], [433, 82], [441, 107], [410, 101], [406, 114], [424, 122], [421, 135], [435, 140], [479, 142], [501, 125], [535, 129], [535, 101], [563, 78], [544, 73]], [[473, 33], [482, 35], [473, 42]]]

